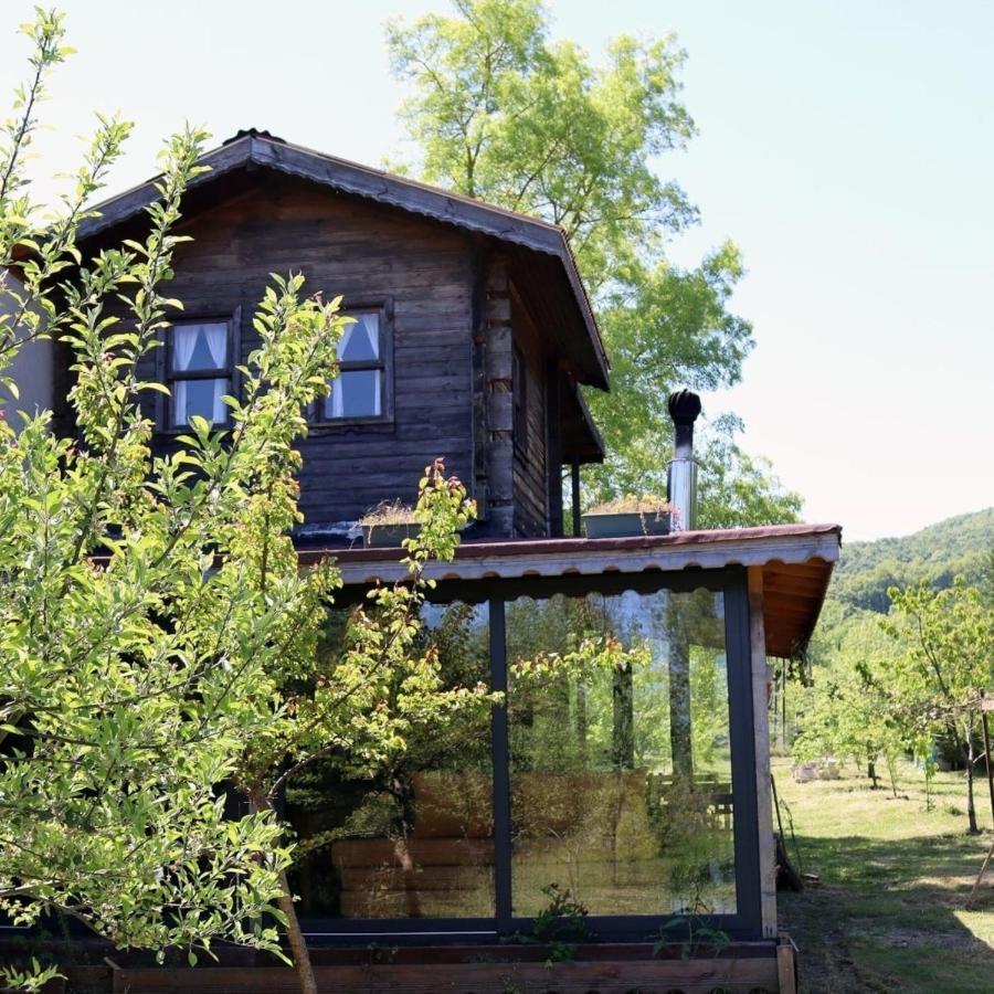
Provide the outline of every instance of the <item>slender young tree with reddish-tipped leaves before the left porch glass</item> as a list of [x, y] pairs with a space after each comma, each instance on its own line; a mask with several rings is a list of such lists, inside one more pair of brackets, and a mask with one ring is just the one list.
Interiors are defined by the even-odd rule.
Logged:
[[[267, 516], [260, 519], [258, 533], [247, 539], [255, 550], [247, 580], [263, 594], [278, 577], [277, 563], [288, 570], [296, 564], [286, 533], [295, 501], [287, 491], [282, 507], [275, 508], [275, 489], [263, 488]], [[420, 742], [432, 730], [438, 734], [458, 712], [489, 708], [494, 698], [486, 686], [447, 685], [435, 646], [420, 638], [419, 611], [433, 582], [423, 578], [424, 567], [431, 559], [452, 559], [458, 530], [474, 506], [458, 480], [445, 478], [441, 462], [427, 467], [419, 490], [415, 520], [421, 530], [404, 540], [409, 578], [370, 591], [368, 606], [349, 618], [343, 644], [331, 652], [321, 652], [319, 645], [327, 593], [337, 582], [334, 570], [326, 569], [326, 582], [314, 586], [309, 613], [284, 618], [287, 634], [281, 639], [278, 666], [255, 688], [269, 702], [271, 717], [255, 731], [247, 730], [233, 774], [256, 812], [273, 815], [282, 791], [315, 763], [337, 760], [351, 776], [371, 776], [395, 765], [409, 742]], [[285, 867], [281, 888], [278, 905], [300, 990], [315, 994]]]

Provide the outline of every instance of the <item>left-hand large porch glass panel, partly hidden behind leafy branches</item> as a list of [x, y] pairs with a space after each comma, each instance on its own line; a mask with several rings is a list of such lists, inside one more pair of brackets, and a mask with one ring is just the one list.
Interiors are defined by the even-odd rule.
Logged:
[[[487, 605], [425, 605], [422, 647], [445, 686], [489, 685]], [[343, 612], [324, 651], [337, 652]], [[305, 918], [490, 918], [494, 808], [487, 709], [415, 727], [380, 769], [329, 757], [295, 776], [287, 815], [300, 845], [293, 881]]]

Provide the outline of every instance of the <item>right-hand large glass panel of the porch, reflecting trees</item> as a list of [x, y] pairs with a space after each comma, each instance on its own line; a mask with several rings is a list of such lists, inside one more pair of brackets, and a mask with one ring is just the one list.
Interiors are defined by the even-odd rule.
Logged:
[[720, 593], [507, 605], [511, 901], [734, 913]]

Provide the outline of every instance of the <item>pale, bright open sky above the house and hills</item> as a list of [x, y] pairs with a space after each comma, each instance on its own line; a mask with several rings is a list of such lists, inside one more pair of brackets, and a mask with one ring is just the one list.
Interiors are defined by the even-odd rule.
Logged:
[[[370, 165], [395, 155], [402, 87], [383, 23], [444, 0], [63, 0], [70, 42], [44, 107], [39, 193], [77, 161], [94, 112], [136, 121], [108, 192], [155, 170], [187, 119], [220, 141], [255, 126]], [[675, 32], [699, 135], [659, 161], [748, 275], [732, 309], [757, 347], [706, 395], [744, 447], [848, 540], [994, 504], [994, 4], [914, 0], [552, 0], [553, 38], [598, 56], [620, 33]], [[0, 93], [24, 75], [0, 6]]]

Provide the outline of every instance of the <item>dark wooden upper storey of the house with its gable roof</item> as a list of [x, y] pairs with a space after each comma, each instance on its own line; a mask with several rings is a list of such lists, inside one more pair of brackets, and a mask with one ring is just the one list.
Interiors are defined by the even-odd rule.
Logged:
[[[302, 272], [357, 319], [300, 444], [304, 536], [343, 538], [381, 500], [410, 499], [437, 456], [476, 497], [478, 533], [562, 535], [563, 467], [603, 458], [579, 387], [607, 388], [562, 231], [267, 133], [240, 131], [202, 162], [170, 285], [184, 314], [144, 370], [172, 391], [149, 400], [158, 444], [190, 413], [223, 423], [269, 275]], [[149, 182], [102, 204], [83, 250], [140, 234], [156, 195]]]

